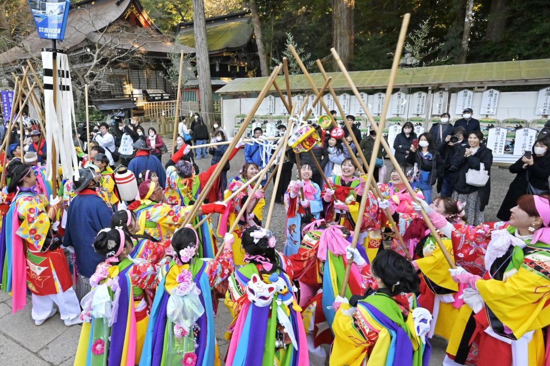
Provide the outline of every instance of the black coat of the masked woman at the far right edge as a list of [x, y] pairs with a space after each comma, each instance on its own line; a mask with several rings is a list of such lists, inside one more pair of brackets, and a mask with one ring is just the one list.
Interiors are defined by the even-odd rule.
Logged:
[[536, 189], [550, 190], [548, 187], [548, 177], [550, 176], [550, 153], [538, 157], [533, 154], [533, 165], [527, 165], [521, 157], [508, 168], [510, 173], [516, 174], [514, 180], [510, 184], [508, 193], [504, 196], [502, 205], [498, 210], [497, 217], [502, 221], [510, 219], [510, 209], [516, 205], [518, 198], [527, 194], [527, 174], [529, 174], [529, 183]]

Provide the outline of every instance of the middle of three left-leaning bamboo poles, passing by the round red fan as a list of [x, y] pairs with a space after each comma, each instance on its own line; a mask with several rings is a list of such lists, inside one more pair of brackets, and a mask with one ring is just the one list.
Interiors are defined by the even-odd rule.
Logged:
[[[328, 75], [326, 73], [326, 71], [324, 71], [324, 67], [323, 67], [323, 64], [321, 64], [321, 61], [320, 60], [317, 60], [317, 67], [319, 68], [319, 71], [321, 71], [321, 74], [323, 75], [323, 77], [325, 79], [328, 78]], [[365, 155], [363, 154], [363, 151], [361, 150], [361, 148], [359, 147], [359, 142], [357, 141], [357, 139], [355, 138], [355, 134], [353, 133], [353, 130], [351, 129], [351, 126], [348, 122], [348, 120], [346, 119], [345, 117], [345, 112], [344, 112], [344, 109], [342, 108], [342, 105], [340, 104], [340, 101], [338, 100], [338, 98], [336, 97], [336, 93], [334, 92], [334, 89], [332, 88], [332, 86], [329, 85], [329, 92], [331, 93], [332, 95], [332, 98], [334, 99], [334, 103], [336, 103], [336, 106], [338, 108], [338, 111], [340, 112], [340, 115], [342, 115], [342, 119], [344, 120], [344, 125], [346, 126], [346, 129], [348, 129], [348, 133], [350, 134], [351, 136], [351, 139], [353, 140], [353, 143], [355, 144], [355, 146], [357, 147], [357, 153], [359, 153], [359, 157], [363, 163], [363, 166], [368, 170], [368, 168], [370, 167], [370, 164], [367, 163], [367, 160], [365, 158]], [[378, 154], [377, 154], [378, 155]], [[376, 155], [376, 156], [377, 156]], [[372, 156], [371, 156], [371, 159], [372, 159]], [[364, 174], [365, 171], [364, 169], [359, 165], [359, 171]], [[372, 187], [373, 189], [373, 193], [381, 200], [384, 199], [383, 195], [382, 195], [382, 192], [380, 191], [380, 188], [378, 187], [378, 182], [376, 182], [375, 180], [375, 177], [374, 177], [374, 174], [371, 175], [371, 179], [370, 181], [367, 181], [365, 182], [366, 183], [366, 188], [368, 189], [369, 185], [370, 187]], [[409, 250], [407, 249], [406, 245], [405, 245], [405, 242], [403, 241], [403, 237], [401, 236], [401, 233], [399, 232], [399, 228], [397, 227], [397, 223], [395, 223], [392, 215], [391, 215], [391, 212], [389, 211], [389, 208], [388, 209], [384, 209], [384, 213], [386, 213], [386, 217], [388, 218], [388, 222], [389, 222], [389, 226], [392, 228], [393, 232], [395, 233], [395, 237], [397, 237], [397, 241], [399, 243], [399, 246], [401, 247], [401, 249], [403, 249], [403, 252], [405, 253], [405, 256], [407, 257], [407, 259], [409, 260], [409, 262], [412, 262], [412, 258], [411, 256], [409, 255]]]

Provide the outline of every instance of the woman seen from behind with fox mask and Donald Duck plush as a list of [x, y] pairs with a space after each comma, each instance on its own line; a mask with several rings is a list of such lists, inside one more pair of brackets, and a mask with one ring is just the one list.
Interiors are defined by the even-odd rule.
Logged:
[[229, 278], [226, 365], [309, 365], [290, 262], [275, 250], [269, 230], [248, 227], [241, 240], [247, 264]]

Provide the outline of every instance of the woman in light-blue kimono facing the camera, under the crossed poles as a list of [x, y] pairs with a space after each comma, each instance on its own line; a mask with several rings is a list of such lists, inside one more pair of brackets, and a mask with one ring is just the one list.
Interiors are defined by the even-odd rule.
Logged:
[[[323, 204], [321, 202], [321, 188], [310, 179], [313, 170], [309, 164], [300, 167], [301, 181], [291, 181], [287, 193], [284, 195], [284, 206], [287, 209], [287, 241], [284, 244], [285, 256], [298, 252], [301, 242], [302, 221], [305, 223], [321, 217]], [[304, 196], [302, 196], [302, 190]]]

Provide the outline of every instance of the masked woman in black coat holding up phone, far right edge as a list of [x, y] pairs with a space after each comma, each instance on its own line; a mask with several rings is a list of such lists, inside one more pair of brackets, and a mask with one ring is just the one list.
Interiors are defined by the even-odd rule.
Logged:
[[[522, 155], [518, 161], [510, 165], [510, 173], [516, 174], [508, 188], [508, 193], [500, 205], [497, 217], [502, 221], [510, 219], [510, 209], [524, 194], [539, 194], [550, 190], [550, 136], [538, 139], [531, 154]], [[529, 157], [527, 157], [529, 156]]]

